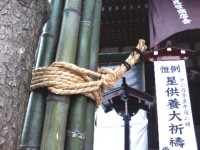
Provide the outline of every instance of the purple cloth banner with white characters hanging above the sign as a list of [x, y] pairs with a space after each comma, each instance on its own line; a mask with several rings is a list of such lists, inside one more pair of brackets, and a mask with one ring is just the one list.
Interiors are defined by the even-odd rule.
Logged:
[[200, 0], [149, 0], [150, 47], [184, 30], [200, 29]]

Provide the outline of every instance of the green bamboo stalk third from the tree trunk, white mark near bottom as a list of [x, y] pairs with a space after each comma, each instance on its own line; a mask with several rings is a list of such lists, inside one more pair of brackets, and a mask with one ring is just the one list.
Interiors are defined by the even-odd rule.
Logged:
[[[84, 0], [81, 27], [78, 42], [76, 64], [79, 67], [89, 68], [92, 19], [95, 0]], [[66, 150], [82, 150], [85, 129], [85, 108], [87, 98], [83, 95], [73, 96], [67, 124]]]

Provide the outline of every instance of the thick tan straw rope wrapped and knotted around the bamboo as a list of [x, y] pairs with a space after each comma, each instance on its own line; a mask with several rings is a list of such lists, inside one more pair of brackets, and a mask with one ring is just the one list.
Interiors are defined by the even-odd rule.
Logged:
[[[147, 46], [140, 39], [137, 48], [143, 52]], [[140, 54], [133, 52], [126, 59], [130, 66], [139, 60]], [[115, 82], [127, 71], [122, 64], [115, 70], [101, 68], [97, 72], [80, 68], [66, 62], [54, 62], [49, 67], [41, 67], [32, 72], [31, 90], [47, 87], [54, 94], [83, 94], [96, 101], [97, 107], [102, 103], [103, 93], [115, 86]]]

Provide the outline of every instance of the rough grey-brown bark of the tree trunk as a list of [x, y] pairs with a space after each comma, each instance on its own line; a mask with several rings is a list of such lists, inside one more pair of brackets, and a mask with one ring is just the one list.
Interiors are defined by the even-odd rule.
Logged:
[[48, 0], [0, 0], [0, 149], [19, 149], [35, 50]]

